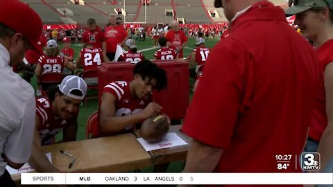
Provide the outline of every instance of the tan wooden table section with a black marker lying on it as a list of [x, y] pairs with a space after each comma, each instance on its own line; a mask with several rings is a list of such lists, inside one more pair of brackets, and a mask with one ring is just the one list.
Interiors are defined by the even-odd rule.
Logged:
[[[132, 133], [98, 139], [56, 143], [42, 146], [51, 152], [52, 163], [62, 172], [126, 172], [152, 166], [151, 155], [136, 140]], [[71, 169], [71, 158], [60, 153], [64, 150], [76, 157]], [[20, 175], [12, 175], [19, 180]]]

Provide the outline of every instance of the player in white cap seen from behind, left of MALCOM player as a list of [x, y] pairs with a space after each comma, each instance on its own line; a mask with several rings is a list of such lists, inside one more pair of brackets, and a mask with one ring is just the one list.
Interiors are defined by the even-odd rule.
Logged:
[[139, 62], [144, 60], [144, 55], [141, 52], [137, 52], [134, 39], [127, 39], [125, 45], [128, 51], [119, 56], [118, 62]]

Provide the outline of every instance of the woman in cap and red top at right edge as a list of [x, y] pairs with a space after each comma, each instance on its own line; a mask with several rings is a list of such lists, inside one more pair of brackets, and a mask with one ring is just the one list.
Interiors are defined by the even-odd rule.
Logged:
[[333, 0], [289, 1], [286, 15], [296, 15], [302, 35], [314, 42], [321, 83], [305, 152], [321, 154], [319, 172], [333, 171]]

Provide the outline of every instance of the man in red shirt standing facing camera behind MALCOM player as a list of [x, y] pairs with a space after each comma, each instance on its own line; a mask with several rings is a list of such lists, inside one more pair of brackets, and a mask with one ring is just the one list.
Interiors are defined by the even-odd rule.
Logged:
[[187, 44], [187, 37], [185, 33], [179, 29], [179, 24], [176, 20], [172, 21], [171, 26], [172, 29], [165, 35], [165, 37], [167, 37], [167, 46], [175, 49], [178, 53], [178, 57], [184, 57], [182, 48]]

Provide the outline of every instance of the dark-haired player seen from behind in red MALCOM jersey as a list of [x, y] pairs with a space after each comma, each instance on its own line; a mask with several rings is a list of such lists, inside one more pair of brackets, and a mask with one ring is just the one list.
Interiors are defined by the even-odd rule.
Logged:
[[154, 60], [174, 60], [177, 59], [177, 52], [167, 46], [167, 38], [159, 37], [158, 43], [161, 48], [154, 53]]

